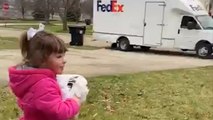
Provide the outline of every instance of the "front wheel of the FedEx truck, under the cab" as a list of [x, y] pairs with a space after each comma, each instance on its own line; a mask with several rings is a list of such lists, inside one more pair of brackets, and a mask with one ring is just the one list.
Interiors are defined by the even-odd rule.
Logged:
[[209, 58], [212, 54], [212, 46], [210, 44], [201, 43], [196, 47], [196, 53], [200, 58]]

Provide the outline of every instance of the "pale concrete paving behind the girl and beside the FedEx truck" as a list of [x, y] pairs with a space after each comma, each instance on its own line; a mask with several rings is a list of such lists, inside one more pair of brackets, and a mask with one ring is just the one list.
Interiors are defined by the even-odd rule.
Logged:
[[[1, 36], [18, 37], [22, 32], [14, 29], [0, 29]], [[57, 35], [66, 43], [70, 41], [69, 34]], [[99, 76], [213, 65], [212, 59], [199, 59], [193, 54], [164, 51], [121, 52], [105, 49], [104, 47], [109, 46], [109, 44], [93, 41], [91, 36], [86, 36], [85, 45], [102, 46], [103, 48], [97, 50], [70, 49], [66, 55], [65, 73]], [[0, 50], [0, 80], [6, 81], [8, 79], [8, 67], [20, 61], [19, 50]]]

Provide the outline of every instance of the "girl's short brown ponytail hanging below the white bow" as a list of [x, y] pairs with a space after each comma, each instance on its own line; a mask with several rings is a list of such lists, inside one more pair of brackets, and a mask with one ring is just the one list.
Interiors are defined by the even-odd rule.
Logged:
[[20, 38], [20, 48], [21, 48], [21, 54], [23, 56], [23, 60], [27, 60], [28, 51], [29, 51], [29, 40], [27, 38], [27, 32], [23, 33]]

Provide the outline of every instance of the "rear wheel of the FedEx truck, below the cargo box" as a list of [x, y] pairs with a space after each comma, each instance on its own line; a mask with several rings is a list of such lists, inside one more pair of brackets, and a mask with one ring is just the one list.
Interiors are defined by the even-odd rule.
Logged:
[[129, 40], [127, 38], [121, 38], [119, 39], [118, 41], [118, 48], [121, 50], [121, 51], [128, 51], [130, 50], [132, 47], [131, 45], [129, 44]]

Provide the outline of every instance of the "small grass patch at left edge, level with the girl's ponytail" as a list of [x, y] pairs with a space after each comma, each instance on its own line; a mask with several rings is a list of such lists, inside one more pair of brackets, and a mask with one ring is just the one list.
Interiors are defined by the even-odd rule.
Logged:
[[0, 50], [1, 49], [18, 49], [18, 48], [19, 48], [18, 38], [0, 36]]

